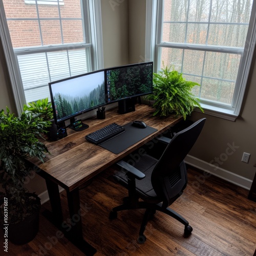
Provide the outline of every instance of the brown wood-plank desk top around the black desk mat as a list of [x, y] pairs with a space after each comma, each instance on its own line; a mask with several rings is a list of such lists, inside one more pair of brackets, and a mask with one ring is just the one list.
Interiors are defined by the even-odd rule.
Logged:
[[[96, 117], [84, 120], [83, 122], [89, 125], [88, 129], [75, 132], [68, 128], [67, 137], [58, 141], [46, 141], [45, 144], [51, 155], [47, 154], [44, 163], [36, 159], [31, 159], [30, 162], [37, 166], [35, 170], [40, 176], [50, 179], [71, 191], [182, 119], [182, 117], [174, 118], [172, 116], [166, 118], [153, 117], [153, 112], [154, 109], [151, 106], [144, 104], [136, 105], [135, 112], [123, 115], [117, 114], [117, 108], [108, 110], [104, 120], [96, 119]], [[118, 155], [105, 150], [101, 146], [94, 145], [84, 138], [87, 134], [110, 123], [116, 122], [124, 125], [134, 120], [142, 120], [158, 131]], [[38, 170], [40, 171], [38, 172]]]

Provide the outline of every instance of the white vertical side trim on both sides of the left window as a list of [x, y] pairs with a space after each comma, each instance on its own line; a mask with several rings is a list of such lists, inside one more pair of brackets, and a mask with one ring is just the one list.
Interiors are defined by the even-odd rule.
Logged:
[[[89, 20], [91, 27], [91, 37], [93, 45], [93, 60], [92, 69], [98, 70], [103, 69], [103, 42], [102, 42], [102, 28], [101, 28], [101, 9], [100, 0], [88, 0], [83, 1], [90, 8], [90, 17], [85, 20]], [[0, 1], [0, 10], [4, 14], [4, 4]], [[16, 104], [17, 113], [23, 112], [23, 106], [26, 104], [25, 93], [23, 89], [22, 79], [20, 77], [19, 69], [17, 66], [17, 59], [15, 59], [14, 51], [11, 44], [11, 37], [8, 29], [8, 24], [6, 21], [6, 16], [0, 15], [0, 37], [2, 39], [2, 44], [4, 48], [4, 53], [6, 57], [7, 67], [9, 71], [11, 86], [14, 95], [14, 101]]]

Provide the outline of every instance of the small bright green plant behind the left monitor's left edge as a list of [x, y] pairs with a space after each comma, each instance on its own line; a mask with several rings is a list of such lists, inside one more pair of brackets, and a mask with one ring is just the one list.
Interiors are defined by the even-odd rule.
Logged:
[[39, 99], [36, 102], [30, 102], [24, 106], [24, 111], [31, 112], [44, 121], [53, 119], [53, 109], [51, 102], [49, 103], [48, 98]]

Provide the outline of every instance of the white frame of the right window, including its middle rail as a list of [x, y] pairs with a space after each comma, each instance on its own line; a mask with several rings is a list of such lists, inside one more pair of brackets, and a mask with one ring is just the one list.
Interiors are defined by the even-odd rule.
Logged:
[[[161, 65], [161, 60], [159, 57], [159, 48], [161, 47], [178, 47], [182, 44], [175, 43], [161, 43], [161, 29], [162, 29], [162, 12], [163, 10], [163, 0], [146, 0], [146, 47], [145, 47], [145, 58], [148, 60], [153, 60], [154, 72], [157, 72]], [[249, 71], [251, 67], [253, 52], [255, 48], [256, 40], [256, 3], [253, 1], [250, 22], [248, 26], [248, 33], [246, 37], [244, 50], [241, 49], [231, 50], [234, 53], [242, 54], [242, 59], [240, 61], [240, 68], [237, 77], [236, 90], [233, 95], [233, 102], [231, 107], [225, 106], [224, 104], [210, 104], [201, 101], [200, 104], [204, 109], [205, 114], [212, 116], [217, 116], [220, 118], [235, 121], [241, 112], [241, 106], [244, 98], [244, 93], [246, 89], [246, 84], [249, 76]], [[216, 47], [216, 51], [219, 47]], [[222, 47], [223, 51], [230, 51], [229, 47]], [[203, 48], [199, 45], [188, 46], [184, 44], [183, 49], [193, 49], [193, 50], [207, 50], [207, 47]], [[211, 47], [212, 49], [212, 47]], [[198, 109], [196, 108], [196, 111]], [[199, 111], [199, 110], [198, 110]]]

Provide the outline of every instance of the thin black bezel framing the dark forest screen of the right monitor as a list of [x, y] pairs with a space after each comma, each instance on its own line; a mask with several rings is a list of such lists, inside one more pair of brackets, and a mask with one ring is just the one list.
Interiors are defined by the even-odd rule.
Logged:
[[[126, 98], [121, 98], [121, 99], [115, 99], [115, 100], [108, 101], [108, 84], [107, 84], [107, 79], [106, 79], [106, 72], [108, 70], [116, 70], [116, 69], [122, 69], [122, 68], [129, 68], [129, 67], [141, 66], [141, 65], [145, 65], [145, 64], [151, 64], [152, 65], [152, 87], [151, 87], [151, 92], [140, 93], [140, 94], [136, 94], [136, 95], [131, 95], [130, 97], [126, 97]], [[112, 104], [112, 103], [115, 103], [115, 102], [118, 102], [118, 101], [122, 101], [122, 100], [126, 100], [126, 99], [131, 99], [131, 98], [136, 98], [136, 97], [144, 96], [144, 95], [148, 95], [148, 94], [152, 94], [153, 93], [153, 70], [154, 70], [153, 69], [153, 61], [139, 62], [139, 63], [133, 63], [133, 64], [123, 65], [123, 66], [116, 66], [116, 67], [106, 68], [105, 69], [106, 104]]]

